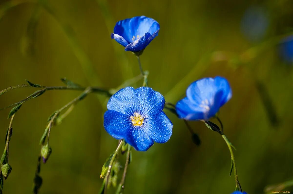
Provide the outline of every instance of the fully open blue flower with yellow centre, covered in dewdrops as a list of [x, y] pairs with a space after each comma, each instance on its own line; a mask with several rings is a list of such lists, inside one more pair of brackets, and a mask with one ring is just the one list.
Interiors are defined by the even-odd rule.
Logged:
[[119, 90], [108, 101], [104, 127], [116, 139], [125, 139], [138, 151], [167, 142], [173, 124], [162, 111], [164, 97], [149, 87]]

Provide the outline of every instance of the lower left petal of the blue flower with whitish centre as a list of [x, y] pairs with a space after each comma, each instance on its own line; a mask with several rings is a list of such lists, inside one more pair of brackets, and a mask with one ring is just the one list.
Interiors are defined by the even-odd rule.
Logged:
[[193, 105], [187, 97], [178, 101], [176, 104], [176, 112], [180, 119], [199, 120], [205, 119], [205, 110], [199, 106]]

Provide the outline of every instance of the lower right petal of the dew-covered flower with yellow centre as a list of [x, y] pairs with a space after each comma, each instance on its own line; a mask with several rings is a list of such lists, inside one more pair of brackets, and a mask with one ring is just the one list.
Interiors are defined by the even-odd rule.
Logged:
[[141, 127], [155, 142], [166, 143], [172, 135], [173, 124], [166, 114], [161, 112], [146, 119]]

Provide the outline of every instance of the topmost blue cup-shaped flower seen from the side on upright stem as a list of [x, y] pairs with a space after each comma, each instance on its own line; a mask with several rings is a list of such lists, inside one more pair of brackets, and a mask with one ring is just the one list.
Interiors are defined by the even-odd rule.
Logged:
[[158, 35], [159, 23], [146, 16], [136, 16], [116, 23], [111, 38], [125, 47], [125, 51], [139, 52]]

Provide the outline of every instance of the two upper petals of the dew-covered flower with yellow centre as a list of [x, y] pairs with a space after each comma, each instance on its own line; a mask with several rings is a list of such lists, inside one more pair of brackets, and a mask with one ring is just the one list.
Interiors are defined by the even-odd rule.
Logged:
[[115, 110], [129, 117], [135, 112], [145, 118], [160, 113], [165, 105], [164, 97], [149, 87], [134, 89], [126, 87], [115, 93], [108, 101], [108, 110]]

